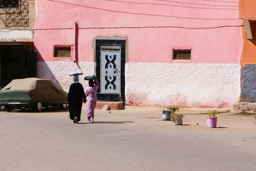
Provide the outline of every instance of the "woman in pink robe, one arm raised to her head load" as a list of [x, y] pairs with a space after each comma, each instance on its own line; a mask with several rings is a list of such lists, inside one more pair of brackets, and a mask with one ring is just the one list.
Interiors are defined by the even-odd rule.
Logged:
[[[95, 85], [94, 85], [95, 84]], [[86, 98], [86, 108], [87, 108], [87, 118], [89, 122], [94, 122], [94, 109], [97, 103], [97, 90], [99, 88], [99, 82], [95, 79], [89, 80], [89, 86], [85, 89]]]

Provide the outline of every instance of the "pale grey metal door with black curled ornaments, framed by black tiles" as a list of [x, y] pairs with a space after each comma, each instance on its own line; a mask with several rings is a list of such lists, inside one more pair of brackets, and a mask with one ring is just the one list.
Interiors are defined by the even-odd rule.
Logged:
[[120, 68], [120, 48], [101, 48], [101, 93], [121, 93]]

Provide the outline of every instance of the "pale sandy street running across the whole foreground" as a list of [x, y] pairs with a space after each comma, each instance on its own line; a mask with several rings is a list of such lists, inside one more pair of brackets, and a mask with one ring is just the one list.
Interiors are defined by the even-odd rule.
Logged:
[[[83, 107], [85, 109], [85, 107]], [[182, 126], [161, 108], [96, 110], [80, 124], [68, 111], [0, 113], [0, 171], [255, 171], [256, 115], [181, 110]], [[198, 125], [196, 125], [198, 123]]]

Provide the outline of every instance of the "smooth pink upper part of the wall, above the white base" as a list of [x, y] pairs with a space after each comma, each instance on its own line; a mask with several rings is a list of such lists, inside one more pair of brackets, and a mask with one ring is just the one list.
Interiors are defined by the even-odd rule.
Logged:
[[[129, 62], [239, 63], [242, 50], [239, 0], [235, 3], [44, 0], [37, 1], [36, 8], [35, 46], [41, 61], [57, 60], [52, 56], [54, 45], [73, 45], [76, 21], [79, 61], [93, 61], [93, 38], [119, 36], [129, 40]], [[108, 29], [147, 26], [170, 27]], [[213, 29], [219, 26], [229, 27]], [[204, 27], [212, 29], [194, 29]], [[192, 60], [173, 61], [172, 48], [192, 48]]]

